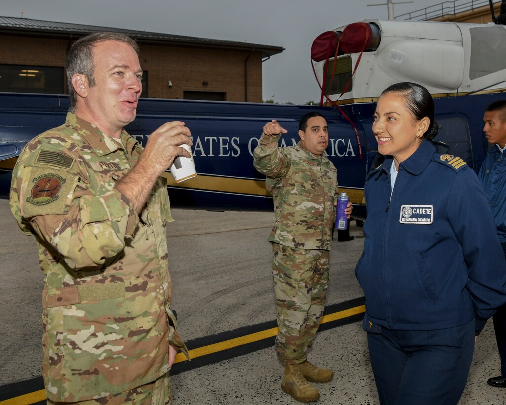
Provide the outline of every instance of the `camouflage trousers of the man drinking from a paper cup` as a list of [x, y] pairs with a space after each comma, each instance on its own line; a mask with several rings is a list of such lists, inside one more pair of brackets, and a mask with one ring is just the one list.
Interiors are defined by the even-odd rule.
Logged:
[[163, 377], [151, 383], [119, 394], [79, 402], [53, 402], [48, 399], [48, 404], [99, 405], [106, 403], [107, 405], [122, 405], [123, 403], [131, 403], [132, 405], [167, 405], [172, 402], [171, 381], [168, 374], [166, 373]]

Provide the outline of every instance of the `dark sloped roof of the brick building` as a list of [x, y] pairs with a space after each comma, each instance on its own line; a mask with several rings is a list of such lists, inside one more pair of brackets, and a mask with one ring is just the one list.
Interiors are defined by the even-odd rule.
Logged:
[[248, 44], [245, 42], [223, 41], [222, 39], [200, 38], [159, 32], [136, 31], [112, 27], [100, 27], [86, 24], [72, 24], [33, 20], [30, 18], [0, 16], [0, 33], [33, 35], [35, 33], [52, 37], [79, 38], [93, 32], [114, 31], [125, 33], [142, 44], [159, 44], [170, 46], [184, 46], [194, 48], [214, 48], [233, 51], [257, 51], [263, 57], [269, 57], [284, 51], [282, 47], [270, 45]]

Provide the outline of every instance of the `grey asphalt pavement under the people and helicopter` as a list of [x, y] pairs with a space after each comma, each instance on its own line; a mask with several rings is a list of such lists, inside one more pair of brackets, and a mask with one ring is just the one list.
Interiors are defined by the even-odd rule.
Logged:
[[[273, 213], [173, 210], [173, 217], [176, 221], [167, 226], [167, 242], [173, 308], [178, 312], [181, 336], [191, 348], [219, 343], [212, 355], [174, 365], [174, 404], [299, 403], [280, 389], [283, 367], [276, 358], [273, 338], [242, 346], [234, 343], [275, 325], [272, 251], [266, 240]], [[0, 230], [2, 391], [13, 383], [40, 378], [44, 277], [34, 239], [19, 230], [5, 199], [0, 199]], [[352, 222], [350, 234], [354, 240], [338, 242], [334, 236], [332, 241], [329, 316], [358, 308], [363, 297], [354, 274], [363, 247], [362, 229]], [[332, 369], [335, 375], [330, 383], [317, 384], [321, 394], [318, 403], [378, 403], [360, 316], [329, 321], [317, 334], [309, 359]], [[231, 348], [220, 348], [224, 344]], [[239, 349], [232, 347], [236, 344]], [[506, 389], [486, 384], [489, 377], [498, 374], [498, 354], [489, 321], [476, 344], [459, 404], [504, 404]]]

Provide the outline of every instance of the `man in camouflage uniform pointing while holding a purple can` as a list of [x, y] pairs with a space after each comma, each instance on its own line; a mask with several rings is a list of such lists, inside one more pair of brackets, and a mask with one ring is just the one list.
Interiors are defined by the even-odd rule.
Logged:
[[[254, 165], [267, 176], [266, 188], [274, 197], [276, 224], [268, 240], [274, 249], [276, 348], [285, 364], [281, 388], [297, 400], [309, 402], [320, 394], [307, 381], [333, 378], [330, 370], [307, 361], [306, 352], [325, 306], [337, 171], [323, 153], [328, 145], [323, 115], [305, 114], [299, 123], [299, 143], [278, 148], [281, 134], [286, 133], [276, 120], [267, 123], [254, 151]], [[351, 204], [347, 214], [351, 214]]]

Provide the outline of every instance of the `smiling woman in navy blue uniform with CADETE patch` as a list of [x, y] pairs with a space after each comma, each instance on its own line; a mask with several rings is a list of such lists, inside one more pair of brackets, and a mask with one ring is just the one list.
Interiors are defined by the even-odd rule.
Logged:
[[475, 335], [506, 301], [506, 264], [475, 172], [440, 155], [423, 87], [386, 89], [372, 131], [384, 163], [366, 180], [365, 294], [372, 371], [385, 405], [456, 404]]

